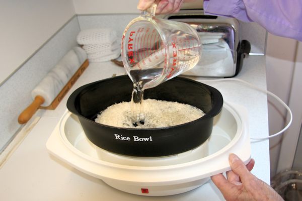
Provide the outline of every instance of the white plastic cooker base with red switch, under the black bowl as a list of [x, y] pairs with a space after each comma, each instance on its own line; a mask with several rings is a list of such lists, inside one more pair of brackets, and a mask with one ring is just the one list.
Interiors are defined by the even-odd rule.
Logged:
[[[201, 128], [202, 129], [202, 128]], [[224, 102], [213, 131], [199, 147], [173, 156], [140, 158], [110, 153], [93, 145], [78, 118], [66, 111], [49, 137], [48, 151], [72, 167], [133, 194], [173, 195], [197, 188], [211, 175], [230, 170], [229, 154], [250, 160], [248, 115]]]

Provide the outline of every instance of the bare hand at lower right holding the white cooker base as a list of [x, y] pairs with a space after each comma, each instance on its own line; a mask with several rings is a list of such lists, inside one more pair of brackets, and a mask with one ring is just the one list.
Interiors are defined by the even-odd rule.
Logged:
[[222, 174], [211, 176], [226, 200], [283, 200], [271, 186], [250, 172], [255, 164], [253, 159], [245, 165], [238, 156], [230, 154], [229, 162], [232, 170], [226, 172], [226, 178]]

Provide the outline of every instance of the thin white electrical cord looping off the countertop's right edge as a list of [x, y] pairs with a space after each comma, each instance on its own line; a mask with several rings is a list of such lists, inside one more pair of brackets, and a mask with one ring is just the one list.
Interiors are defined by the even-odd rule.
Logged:
[[287, 110], [287, 112], [289, 114], [289, 121], [288, 121], [287, 125], [282, 130], [280, 130], [279, 132], [277, 132], [275, 134], [269, 135], [268, 137], [251, 138], [252, 140], [267, 140], [267, 139], [270, 139], [270, 138], [274, 138], [274, 137], [282, 134], [284, 131], [286, 131], [288, 129], [288, 127], [290, 126], [291, 122], [292, 122], [292, 113], [291, 113], [289, 107], [283, 102], [283, 100], [281, 100], [281, 98], [279, 98], [277, 95], [275, 95], [274, 93], [272, 93], [268, 90], [261, 89], [261, 88], [255, 86], [254, 84], [251, 84], [250, 82], [247, 82], [247, 81], [244, 81], [244, 80], [238, 79], [238, 78], [222, 78], [222, 79], [208, 79], [208, 80], [206, 79], [206, 80], [197, 80], [197, 81], [202, 81], [202, 82], [207, 82], [207, 81], [239, 81], [239, 82], [245, 83], [246, 85], [250, 86], [253, 89], [259, 90], [261, 92], [264, 92], [264, 93], [274, 97]]

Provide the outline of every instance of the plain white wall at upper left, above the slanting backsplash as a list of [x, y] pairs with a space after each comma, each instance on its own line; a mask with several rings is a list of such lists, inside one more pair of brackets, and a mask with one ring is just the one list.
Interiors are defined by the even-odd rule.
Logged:
[[72, 0], [0, 0], [0, 83], [74, 14]]

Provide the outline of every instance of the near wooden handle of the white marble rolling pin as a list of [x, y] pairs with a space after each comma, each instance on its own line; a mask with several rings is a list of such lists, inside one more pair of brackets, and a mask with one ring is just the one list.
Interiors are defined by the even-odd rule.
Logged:
[[36, 113], [38, 108], [45, 102], [45, 99], [37, 95], [33, 101], [33, 103], [28, 106], [20, 115], [18, 118], [19, 124], [25, 124], [27, 123], [30, 118]]

